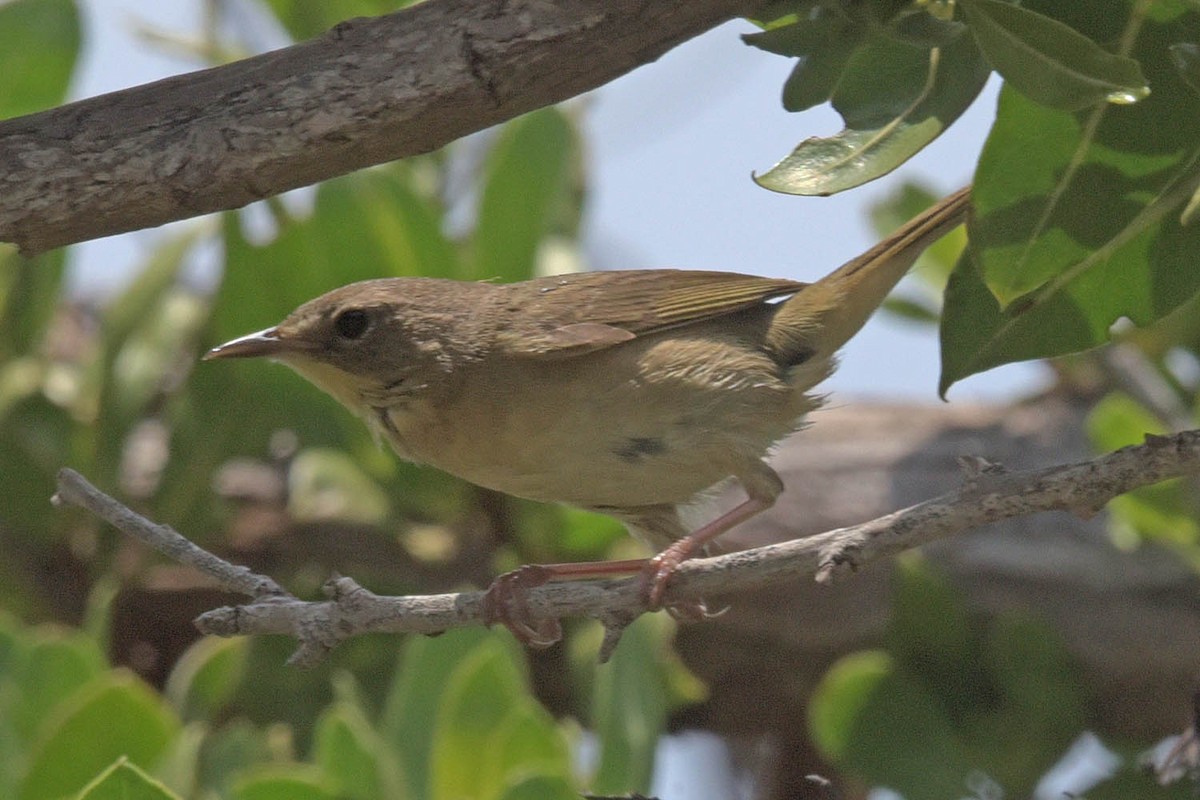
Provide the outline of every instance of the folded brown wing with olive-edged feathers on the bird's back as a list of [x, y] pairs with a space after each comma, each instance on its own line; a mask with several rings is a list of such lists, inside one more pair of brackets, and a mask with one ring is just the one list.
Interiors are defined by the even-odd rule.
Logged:
[[498, 343], [514, 355], [560, 359], [640, 335], [724, 317], [805, 283], [736, 272], [580, 272], [511, 284]]

